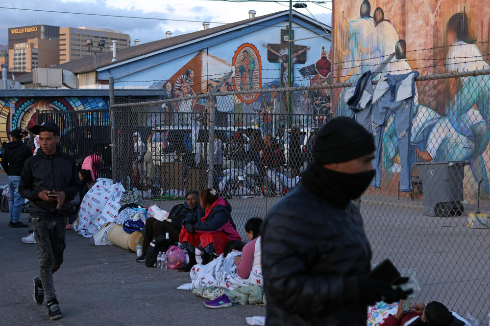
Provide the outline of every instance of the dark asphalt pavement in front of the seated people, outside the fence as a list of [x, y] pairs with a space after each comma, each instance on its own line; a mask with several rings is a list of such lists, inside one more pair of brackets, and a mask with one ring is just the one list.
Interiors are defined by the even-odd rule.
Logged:
[[[1, 175], [1, 174], [0, 174]], [[28, 215], [21, 220], [27, 223]], [[32, 298], [38, 275], [35, 244], [21, 242], [26, 229], [11, 229], [8, 213], [0, 213], [0, 306], [2, 325], [54, 325], [45, 304]], [[92, 246], [68, 230], [65, 261], [54, 274], [63, 318], [55, 325], [245, 325], [245, 317], [265, 316], [260, 305], [233, 304], [209, 309], [191, 291], [189, 273], [147, 268], [136, 254], [117, 246]]]

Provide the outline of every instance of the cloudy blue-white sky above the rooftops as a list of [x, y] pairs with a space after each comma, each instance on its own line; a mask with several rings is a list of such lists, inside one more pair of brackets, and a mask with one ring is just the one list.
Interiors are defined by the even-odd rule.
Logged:
[[[284, 0], [282, 0], [284, 1]], [[294, 0], [295, 1], [295, 0]], [[6, 2], [6, 1], [5, 1]], [[37, 23], [60, 27], [103, 27], [129, 34], [132, 45], [134, 40], [147, 43], [165, 38], [165, 32], [172, 36], [202, 29], [202, 22], [210, 22], [210, 27], [219, 26], [219, 22], [237, 22], [248, 18], [248, 10], [255, 10], [257, 16], [288, 10], [289, 3], [249, 0], [23, 0], [0, 4], [0, 44], [8, 43], [8, 28], [35, 25]], [[307, 8], [295, 9], [319, 22], [330, 25], [332, 7], [329, 0], [316, 4], [304, 1]], [[18, 8], [18, 9], [4, 9]], [[150, 19], [130, 19], [75, 15], [67, 13], [48, 13], [19, 9], [40, 9], [85, 14], [106, 14], [117, 16], [135, 16], [145, 18], [173, 19], [197, 22], [175, 22]], [[309, 11], [309, 12], [308, 12]]]

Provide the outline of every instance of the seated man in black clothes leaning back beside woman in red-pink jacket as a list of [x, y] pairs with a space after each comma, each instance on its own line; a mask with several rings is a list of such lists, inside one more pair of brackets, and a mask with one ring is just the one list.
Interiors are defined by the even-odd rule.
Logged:
[[[172, 207], [168, 219], [159, 221], [154, 217], [148, 217], [145, 224], [145, 239], [143, 240], [143, 252], [136, 261], [144, 262], [148, 246], [154, 238], [159, 235], [168, 233], [172, 242], [178, 242], [182, 220], [189, 213], [196, 211], [199, 206], [199, 193], [196, 190], [188, 191], [185, 195], [185, 204], [178, 204]], [[170, 221], [169, 221], [170, 220]]]

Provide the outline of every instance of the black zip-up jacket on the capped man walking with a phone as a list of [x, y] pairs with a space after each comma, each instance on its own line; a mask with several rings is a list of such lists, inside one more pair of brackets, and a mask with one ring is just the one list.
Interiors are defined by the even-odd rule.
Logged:
[[[19, 184], [21, 196], [30, 200], [29, 213], [34, 217], [63, 218], [71, 212], [73, 197], [80, 191], [81, 183], [72, 156], [63, 153], [59, 145], [48, 155], [41, 148], [24, 165]], [[46, 202], [38, 194], [43, 190], [63, 191], [65, 202], [56, 209], [57, 201]]]

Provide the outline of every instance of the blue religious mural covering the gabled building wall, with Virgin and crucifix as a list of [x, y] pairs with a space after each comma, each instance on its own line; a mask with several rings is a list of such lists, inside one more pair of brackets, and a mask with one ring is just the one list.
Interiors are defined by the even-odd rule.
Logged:
[[[298, 42], [300, 44], [293, 43], [291, 55], [294, 67], [293, 86], [330, 83], [331, 61], [328, 57], [330, 41], [295, 23], [293, 32], [294, 37], [304, 40]], [[289, 57], [288, 42], [284, 37], [288, 33], [287, 28], [266, 27], [197, 52], [177, 56], [172, 61], [152, 66], [151, 69], [127, 75], [117, 80], [116, 85], [125, 89], [163, 88], [165, 95], [162, 99], [181, 99], [178, 102], [164, 104], [162, 108], [152, 107], [151, 112], [154, 114], [149, 113], [147, 125], [170, 126], [176, 123], [188, 123], [185, 113], [206, 111], [211, 103], [207, 99], [186, 98], [207, 94], [225, 77], [227, 79], [224, 80], [223, 87], [215, 91], [286, 87]], [[273, 43], [272, 40], [280, 42]], [[229, 76], [230, 72], [231, 76]], [[146, 81], [150, 83], [146, 84]], [[266, 112], [270, 110], [281, 115], [282, 118], [287, 113], [287, 96], [281, 92], [218, 96], [216, 99], [217, 102], [221, 102], [221, 104], [216, 103], [217, 106], [221, 105], [220, 108], [217, 107], [218, 111], [235, 113], [236, 121], [229, 121], [228, 125], [243, 126], [245, 122], [242, 121], [242, 114], [263, 114], [264, 108]], [[293, 99], [292, 113], [318, 114], [327, 107], [330, 93], [326, 90], [294, 92]], [[158, 120], [159, 112], [169, 113], [164, 114], [166, 116], [164, 121]], [[173, 114], [170, 114], [172, 112], [180, 112], [184, 115], [178, 115], [179, 121], [173, 121]], [[257, 121], [254, 123], [258, 124]]]

